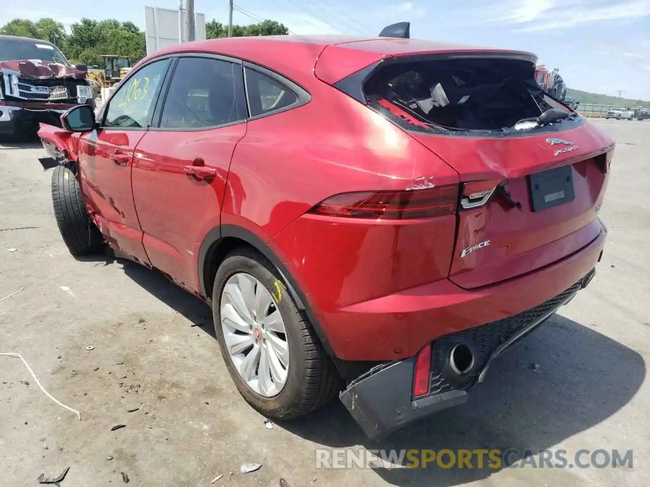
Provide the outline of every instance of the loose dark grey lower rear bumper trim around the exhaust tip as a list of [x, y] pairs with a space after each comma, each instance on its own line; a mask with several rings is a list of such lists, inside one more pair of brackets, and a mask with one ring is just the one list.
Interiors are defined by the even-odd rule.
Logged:
[[[483, 380], [497, 356], [571, 301], [594, 274], [592, 269], [564, 292], [525, 312], [435, 340], [427, 395], [413, 399], [415, 358], [407, 358], [376, 366], [350, 383], [339, 398], [372, 439], [382, 438], [439, 410], [460, 405], [467, 401], [469, 390]], [[449, 353], [457, 343], [465, 343], [474, 354], [475, 365], [463, 377], [455, 375], [448, 367]]]

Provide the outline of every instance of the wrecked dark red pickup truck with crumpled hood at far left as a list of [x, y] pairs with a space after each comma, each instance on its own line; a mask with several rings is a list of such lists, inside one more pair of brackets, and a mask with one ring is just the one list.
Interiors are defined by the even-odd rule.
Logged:
[[0, 135], [36, 136], [39, 123], [60, 127], [72, 106], [94, 108], [86, 66], [72, 66], [44, 40], [0, 36]]

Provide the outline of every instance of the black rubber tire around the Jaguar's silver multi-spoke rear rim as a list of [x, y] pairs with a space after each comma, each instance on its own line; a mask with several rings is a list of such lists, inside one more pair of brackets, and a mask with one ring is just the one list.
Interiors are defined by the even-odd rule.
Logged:
[[274, 397], [264, 397], [254, 392], [240, 377], [226, 349], [220, 319], [222, 290], [226, 281], [239, 272], [257, 278], [267, 290], [274, 290], [279, 280], [274, 266], [263, 255], [246, 247], [227, 255], [217, 270], [213, 288], [214, 331], [237, 390], [255, 410], [275, 419], [298, 418], [326, 405], [341, 390], [341, 377], [309, 319], [296, 307], [289, 293], [281, 293], [279, 303], [276, 303], [287, 330], [291, 357], [284, 388]]

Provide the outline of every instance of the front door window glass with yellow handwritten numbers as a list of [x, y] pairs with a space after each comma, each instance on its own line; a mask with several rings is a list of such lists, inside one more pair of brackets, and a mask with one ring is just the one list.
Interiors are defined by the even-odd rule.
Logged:
[[110, 100], [104, 127], [146, 127], [169, 63], [169, 59], [152, 62], [120, 84]]

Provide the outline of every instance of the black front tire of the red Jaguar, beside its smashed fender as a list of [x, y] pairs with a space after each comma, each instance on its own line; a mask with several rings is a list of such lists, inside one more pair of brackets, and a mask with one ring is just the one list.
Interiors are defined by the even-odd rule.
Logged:
[[73, 256], [99, 253], [103, 238], [88, 216], [77, 176], [66, 166], [52, 173], [52, 204], [63, 242]]

